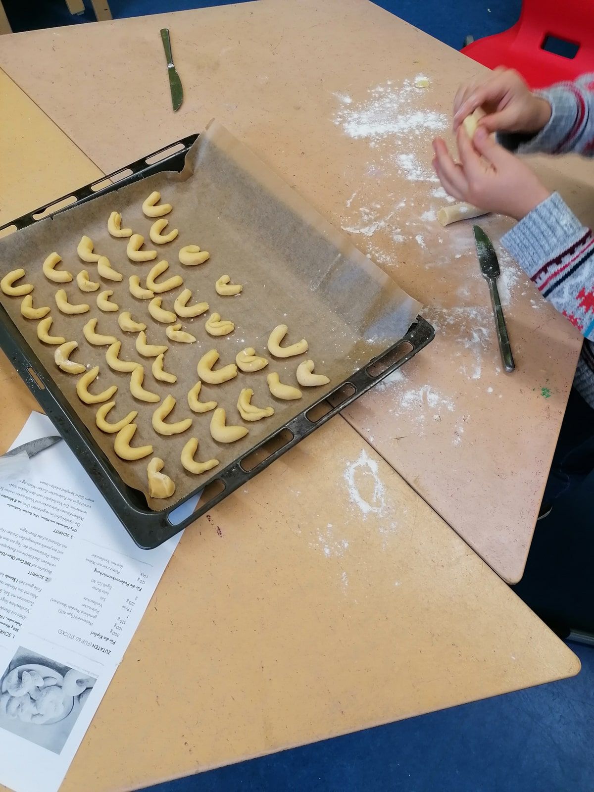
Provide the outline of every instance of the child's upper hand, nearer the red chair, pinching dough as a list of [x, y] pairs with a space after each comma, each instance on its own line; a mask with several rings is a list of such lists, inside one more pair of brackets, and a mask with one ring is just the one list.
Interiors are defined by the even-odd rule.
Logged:
[[550, 119], [550, 104], [535, 97], [517, 71], [495, 69], [484, 82], [458, 89], [454, 100], [454, 131], [478, 107], [487, 113], [478, 122], [489, 132], [538, 132]]

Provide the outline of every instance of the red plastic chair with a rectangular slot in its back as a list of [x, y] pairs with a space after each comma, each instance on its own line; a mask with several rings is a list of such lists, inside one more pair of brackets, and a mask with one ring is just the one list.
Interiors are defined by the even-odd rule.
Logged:
[[[551, 36], [577, 47], [574, 57], [543, 49]], [[531, 88], [575, 80], [580, 74], [594, 71], [594, 2], [524, 0], [516, 25], [473, 41], [462, 51], [490, 69], [516, 69]]]

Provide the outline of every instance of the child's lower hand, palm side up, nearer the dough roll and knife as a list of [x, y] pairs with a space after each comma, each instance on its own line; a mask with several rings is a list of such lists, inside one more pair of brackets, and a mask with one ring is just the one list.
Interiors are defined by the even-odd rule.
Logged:
[[536, 174], [495, 143], [484, 128], [478, 127], [473, 143], [463, 126], [456, 138], [460, 163], [452, 160], [444, 140], [433, 141], [436, 156], [432, 164], [451, 196], [516, 220], [550, 196]]

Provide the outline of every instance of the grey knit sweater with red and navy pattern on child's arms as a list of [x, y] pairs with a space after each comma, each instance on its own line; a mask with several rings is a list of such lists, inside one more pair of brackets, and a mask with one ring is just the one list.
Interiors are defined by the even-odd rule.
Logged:
[[[594, 156], [594, 74], [540, 91], [551, 105], [550, 121], [538, 135], [499, 135], [520, 154], [577, 151]], [[594, 408], [594, 235], [555, 192], [501, 239], [544, 298], [586, 341], [574, 385]]]

